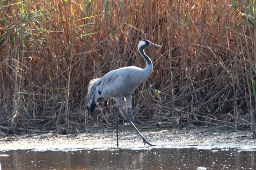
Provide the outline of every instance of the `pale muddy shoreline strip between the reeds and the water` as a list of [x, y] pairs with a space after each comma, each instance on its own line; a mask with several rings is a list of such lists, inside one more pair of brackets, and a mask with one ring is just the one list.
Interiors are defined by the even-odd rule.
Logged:
[[[212, 130], [211, 130], [212, 129]], [[155, 146], [144, 145], [131, 129], [119, 131], [119, 149], [150, 150], [153, 148], [238, 148], [256, 150], [251, 131], [230, 131], [214, 127], [140, 129]], [[0, 151], [6, 150], [115, 150], [116, 131], [98, 129], [84, 133], [57, 135], [56, 133], [25, 134], [0, 138]]]

